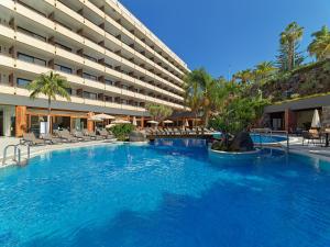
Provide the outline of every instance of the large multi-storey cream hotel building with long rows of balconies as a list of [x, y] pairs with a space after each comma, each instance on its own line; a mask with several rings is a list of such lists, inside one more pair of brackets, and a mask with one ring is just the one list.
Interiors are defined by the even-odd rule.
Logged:
[[97, 113], [143, 125], [148, 102], [185, 109], [187, 65], [116, 0], [0, 1], [0, 136], [38, 132], [47, 101], [25, 86], [50, 70], [72, 87], [53, 127], [90, 128]]

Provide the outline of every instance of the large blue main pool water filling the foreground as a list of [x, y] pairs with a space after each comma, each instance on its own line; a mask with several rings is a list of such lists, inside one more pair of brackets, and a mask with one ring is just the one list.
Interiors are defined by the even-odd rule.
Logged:
[[54, 151], [0, 170], [0, 246], [327, 247], [330, 164], [204, 141]]

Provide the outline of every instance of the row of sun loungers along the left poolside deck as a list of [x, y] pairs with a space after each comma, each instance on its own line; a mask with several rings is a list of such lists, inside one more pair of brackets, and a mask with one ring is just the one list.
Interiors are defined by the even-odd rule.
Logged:
[[34, 133], [24, 133], [21, 139], [22, 144], [29, 145], [46, 145], [46, 144], [61, 144], [61, 143], [78, 143], [89, 141], [105, 141], [114, 139], [114, 136], [106, 130], [98, 130], [98, 135], [95, 132], [84, 130], [82, 132], [67, 130], [54, 131], [54, 135], [45, 134], [41, 138], [36, 138]]

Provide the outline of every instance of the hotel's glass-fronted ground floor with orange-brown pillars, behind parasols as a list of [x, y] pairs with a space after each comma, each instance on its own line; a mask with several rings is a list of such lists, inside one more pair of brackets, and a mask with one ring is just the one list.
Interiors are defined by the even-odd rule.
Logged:
[[[111, 123], [110, 120], [95, 122], [92, 116], [105, 112], [88, 110], [89, 109], [81, 109], [78, 111], [52, 108], [51, 132], [58, 128], [66, 128], [69, 131], [82, 131], [87, 128], [88, 131], [95, 131], [96, 127], [105, 127]], [[125, 112], [106, 113], [111, 114], [117, 120], [125, 120], [130, 121], [131, 123], [134, 122], [138, 128], [152, 126], [152, 124], [148, 123], [152, 117], [147, 114], [141, 115]], [[25, 132], [32, 132], [38, 136], [46, 131], [47, 114], [48, 111], [45, 104], [41, 104], [41, 106], [0, 104], [0, 136], [21, 137]], [[196, 121], [187, 114], [180, 114], [180, 116], [174, 114], [169, 119], [172, 119], [172, 123], [167, 125], [170, 126], [193, 126], [196, 123]], [[160, 125], [164, 126], [163, 123]]]

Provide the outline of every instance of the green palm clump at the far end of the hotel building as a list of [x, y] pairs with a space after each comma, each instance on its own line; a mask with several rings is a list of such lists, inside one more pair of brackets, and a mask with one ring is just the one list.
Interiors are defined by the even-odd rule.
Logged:
[[218, 81], [215, 80], [204, 68], [193, 70], [185, 78], [185, 101], [197, 119], [199, 111], [202, 112], [205, 125], [208, 125], [211, 111], [218, 104]]

